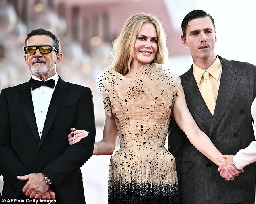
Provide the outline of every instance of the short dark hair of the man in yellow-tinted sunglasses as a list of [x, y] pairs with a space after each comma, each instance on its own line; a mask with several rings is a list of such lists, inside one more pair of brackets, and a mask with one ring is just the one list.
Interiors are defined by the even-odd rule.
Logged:
[[58, 53], [61, 52], [61, 44], [60, 44], [58, 37], [56, 35], [54, 35], [52, 32], [42, 29], [42, 28], [34, 29], [30, 33], [27, 33], [27, 38], [25, 40], [25, 46], [27, 46], [27, 40], [29, 39], [29, 37], [32, 37], [34, 35], [47, 35], [47, 36], [51, 37], [53, 39], [53, 44], [52, 44], [53, 47], [55, 47], [55, 49], [57, 50]]

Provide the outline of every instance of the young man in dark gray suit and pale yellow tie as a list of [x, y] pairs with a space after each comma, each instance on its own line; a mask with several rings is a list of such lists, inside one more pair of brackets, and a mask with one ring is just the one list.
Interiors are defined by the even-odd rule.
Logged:
[[[181, 27], [181, 40], [193, 59], [189, 71], [180, 76], [189, 111], [222, 154], [234, 155], [254, 140], [250, 107], [256, 96], [256, 66], [215, 54], [214, 19], [206, 12], [189, 12]], [[205, 92], [209, 80], [211, 88]], [[218, 167], [187, 140], [173, 118], [168, 146], [176, 158], [182, 204], [254, 203], [255, 163], [233, 181], [225, 181]]]

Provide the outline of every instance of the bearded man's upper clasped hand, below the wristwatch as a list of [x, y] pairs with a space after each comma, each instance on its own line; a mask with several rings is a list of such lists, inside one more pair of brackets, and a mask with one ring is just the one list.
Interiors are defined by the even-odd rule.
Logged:
[[17, 176], [20, 181], [27, 181], [22, 192], [30, 198], [41, 198], [49, 189], [42, 173], [30, 173], [24, 176]]

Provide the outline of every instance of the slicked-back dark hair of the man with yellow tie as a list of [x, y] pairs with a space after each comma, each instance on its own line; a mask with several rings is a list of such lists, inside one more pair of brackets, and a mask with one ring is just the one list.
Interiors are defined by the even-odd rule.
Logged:
[[214, 19], [212, 18], [212, 16], [210, 16], [210, 14], [206, 13], [203, 10], [193, 10], [191, 12], [189, 12], [183, 19], [183, 21], [181, 22], [181, 30], [182, 30], [182, 35], [184, 37], [186, 37], [186, 30], [187, 27], [189, 25], [189, 21], [193, 20], [193, 19], [198, 19], [198, 18], [204, 18], [204, 17], [209, 17], [212, 21], [212, 24], [214, 26], [214, 31], [215, 31], [215, 22]]

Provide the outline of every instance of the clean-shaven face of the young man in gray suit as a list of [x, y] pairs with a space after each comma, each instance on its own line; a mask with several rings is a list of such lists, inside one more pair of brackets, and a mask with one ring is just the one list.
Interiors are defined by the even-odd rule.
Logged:
[[216, 31], [208, 16], [189, 21], [186, 37], [182, 35], [181, 40], [185, 47], [189, 47], [194, 63], [198, 60], [214, 62], [216, 59], [214, 52], [217, 41]]

